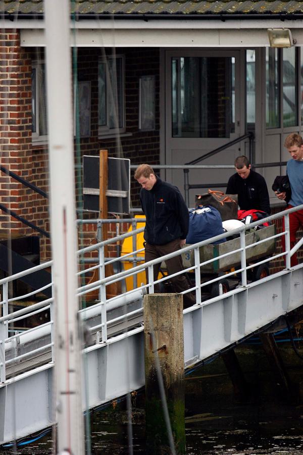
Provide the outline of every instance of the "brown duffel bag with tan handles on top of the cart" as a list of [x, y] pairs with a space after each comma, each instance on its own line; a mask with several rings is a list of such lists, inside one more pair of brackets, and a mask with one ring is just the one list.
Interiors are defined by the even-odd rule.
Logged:
[[217, 209], [222, 221], [238, 219], [238, 195], [225, 194], [223, 191], [208, 190], [204, 194], [196, 194], [195, 208], [198, 206], [212, 206]]

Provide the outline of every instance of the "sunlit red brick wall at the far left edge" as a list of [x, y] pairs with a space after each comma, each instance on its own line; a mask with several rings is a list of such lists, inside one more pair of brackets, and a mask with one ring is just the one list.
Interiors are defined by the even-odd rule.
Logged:
[[[31, 61], [20, 47], [18, 32], [0, 33], [1, 164], [31, 180]], [[0, 177], [1, 203], [18, 215], [31, 217], [28, 191], [4, 173]], [[1, 229], [25, 233], [28, 230], [0, 213]]]

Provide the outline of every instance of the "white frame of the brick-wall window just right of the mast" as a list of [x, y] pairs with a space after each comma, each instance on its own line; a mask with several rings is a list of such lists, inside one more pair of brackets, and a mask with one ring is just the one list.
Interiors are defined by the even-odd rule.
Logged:
[[[121, 74], [121, 81], [122, 81], [122, 107], [121, 107], [121, 113], [122, 113], [122, 126], [118, 128], [110, 128], [110, 103], [108, 100], [111, 100], [113, 98], [111, 94], [111, 83], [110, 83], [110, 74], [108, 70], [108, 61], [109, 60], [118, 60], [121, 59], [122, 61], [122, 74]], [[106, 58], [102, 57], [99, 59], [98, 62], [98, 74], [99, 74], [99, 65], [100, 64], [106, 64], [106, 125], [98, 125], [98, 136], [99, 137], [112, 137], [117, 133], [124, 133], [126, 128], [125, 128], [125, 56], [124, 55], [116, 55], [116, 56], [107, 56]], [[98, 102], [99, 102], [99, 90], [98, 90]], [[99, 104], [99, 103], [98, 103]], [[99, 107], [98, 107], [99, 109]], [[98, 113], [99, 115], [99, 113]]]

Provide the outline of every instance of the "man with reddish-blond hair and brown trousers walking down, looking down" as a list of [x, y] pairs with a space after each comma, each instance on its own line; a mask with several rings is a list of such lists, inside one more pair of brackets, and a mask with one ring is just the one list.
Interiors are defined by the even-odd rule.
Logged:
[[[149, 165], [141, 164], [136, 169], [135, 179], [142, 187], [140, 201], [146, 217], [144, 240], [145, 262], [148, 262], [177, 251], [185, 244], [189, 214], [179, 189], [162, 181]], [[165, 262], [169, 275], [183, 270], [180, 255]], [[154, 280], [158, 278], [160, 266], [161, 263], [154, 266]], [[190, 287], [185, 275], [173, 277], [171, 281], [177, 292]], [[194, 293], [184, 294], [183, 300], [184, 308], [194, 305]]]

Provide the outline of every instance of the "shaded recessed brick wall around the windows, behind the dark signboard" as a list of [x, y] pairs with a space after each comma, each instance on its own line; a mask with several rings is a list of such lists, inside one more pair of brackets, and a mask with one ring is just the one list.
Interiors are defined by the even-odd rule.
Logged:
[[[109, 51], [107, 51], [109, 52]], [[125, 99], [126, 99], [126, 135], [119, 139], [98, 138], [98, 59], [102, 57], [102, 50], [95, 48], [78, 48], [77, 49], [77, 66], [78, 80], [91, 82], [91, 134], [90, 137], [83, 137], [79, 144], [75, 144], [75, 150], [79, 149], [80, 154], [75, 155], [75, 161], [82, 164], [83, 155], [98, 155], [99, 149], [108, 149], [109, 156], [129, 158], [131, 164], [160, 163], [160, 137], [159, 137], [159, 49], [149, 49], [148, 56], [146, 49], [116, 49], [117, 55], [125, 56]], [[31, 52], [32, 60], [43, 60], [41, 50]], [[156, 77], [156, 129], [155, 131], [140, 131], [138, 129], [139, 116], [139, 77], [144, 75], [155, 75]], [[48, 164], [47, 164], [47, 147], [35, 146], [32, 149], [32, 183], [48, 191]], [[82, 175], [76, 173], [76, 178], [80, 179], [81, 188]], [[134, 207], [139, 206], [139, 187], [133, 180], [131, 174], [131, 199]], [[41, 196], [34, 196], [35, 204], [33, 215], [37, 217], [39, 227], [49, 231], [48, 206], [47, 201]], [[81, 197], [79, 190], [77, 192], [77, 206], [80, 207]], [[78, 217], [84, 219], [96, 218], [97, 214], [84, 213], [78, 214]], [[121, 226], [121, 232], [125, 232], [128, 225]], [[109, 226], [110, 235], [116, 234], [116, 226]], [[86, 224], [79, 228], [79, 245], [88, 246], [95, 238], [96, 225]], [[109, 248], [109, 255], [114, 256], [116, 247]], [[49, 241], [41, 238], [41, 258], [48, 259], [51, 254]]]

